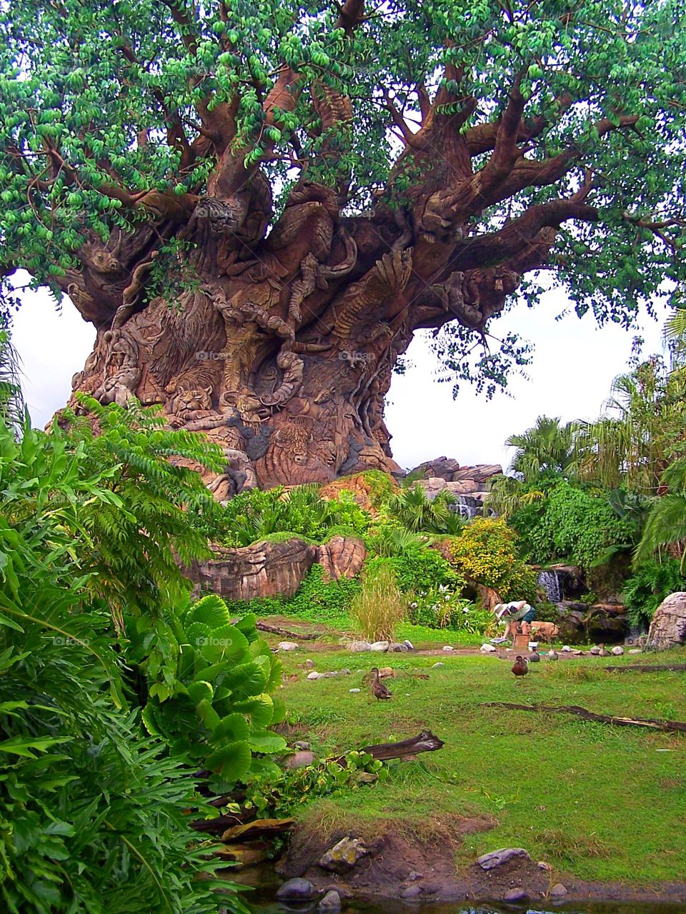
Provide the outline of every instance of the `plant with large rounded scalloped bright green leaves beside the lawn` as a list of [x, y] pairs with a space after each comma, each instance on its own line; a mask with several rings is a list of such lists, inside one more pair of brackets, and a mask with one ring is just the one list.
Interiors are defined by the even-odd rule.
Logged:
[[226, 603], [210, 594], [165, 622], [129, 627], [128, 657], [147, 677], [147, 731], [178, 759], [212, 771], [218, 791], [251, 771], [275, 771], [263, 756], [286, 746], [269, 729], [285, 715], [273, 695], [281, 664], [258, 638], [254, 615], [231, 624]]

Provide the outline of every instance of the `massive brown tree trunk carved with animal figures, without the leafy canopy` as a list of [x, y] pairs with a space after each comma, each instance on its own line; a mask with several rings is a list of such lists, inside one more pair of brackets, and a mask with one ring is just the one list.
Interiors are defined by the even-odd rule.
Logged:
[[[227, 457], [207, 480], [220, 499], [397, 472], [384, 397], [413, 332], [456, 319], [480, 332], [520, 279], [502, 266], [456, 271], [454, 239], [382, 207], [341, 217], [334, 192], [306, 182], [264, 239], [267, 193], [201, 198], [190, 216], [160, 204], [156, 231], [115, 230], [81, 251], [83, 270], [65, 282], [98, 328], [74, 389], [158, 403], [172, 426], [206, 432]], [[183, 291], [148, 303], [160, 237], [172, 236], [186, 244]]]

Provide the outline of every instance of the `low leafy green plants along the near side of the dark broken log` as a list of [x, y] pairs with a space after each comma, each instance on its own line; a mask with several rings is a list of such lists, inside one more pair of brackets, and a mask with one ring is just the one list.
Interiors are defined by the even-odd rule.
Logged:
[[388, 769], [368, 752], [353, 750], [341, 758], [316, 761], [305, 768], [285, 769], [277, 778], [253, 779], [247, 792], [258, 817], [295, 815], [306, 803], [342, 796], [360, 786], [383, 783]]

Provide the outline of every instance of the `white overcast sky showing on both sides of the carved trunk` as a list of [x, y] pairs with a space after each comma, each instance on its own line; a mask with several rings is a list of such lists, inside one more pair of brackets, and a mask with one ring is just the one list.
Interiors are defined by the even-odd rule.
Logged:
[[[571, 314], [556, 322], [565, 300], [547, 292], [540, 306], [521, 305], [497, 324], [498, 334], [511, 328], [535, 344], [528, 377], [513, 377], [509, 396], [491, 400], [468, 385], [452, 398], [450, 384], [436, 381], [436, 360], [428, 342], [413, 341], [413, 367], [391, 385], [386, 420], [393, 435], [393, 456], [411, 468], [441, 455], [462, 465], [503, 463], [504, 441], [529, 428], [537, 416], [564, 421], [594, 419], [613, 377], [627, 370], [634, 335], [646, 340], [646, 355], [661, 351], [661, 322], [646, 317], [640, 329], [615, 324], [597, 329], [590, 314]], [[16, 315], [13, 341], [22, 359], [23, 386], [34, 424], [42, 427], [70, 396], [71, 377], [91, 352], [95, 332], [70, 303], [59, 313], [48, 294], [27, 293]]]

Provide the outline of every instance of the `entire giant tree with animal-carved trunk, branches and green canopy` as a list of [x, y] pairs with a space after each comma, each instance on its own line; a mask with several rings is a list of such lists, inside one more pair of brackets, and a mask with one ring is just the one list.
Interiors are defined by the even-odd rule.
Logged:
[[220, 495], [392, 468], [418, 328], [493, 380], [517, 343], [469, 353], [528, 274], [601, 323], [680, 281], [683, 14], [5, 0], [5, 295], [18, 268], [69, 295], [97, 328], [74, 388], [206, 431]]

